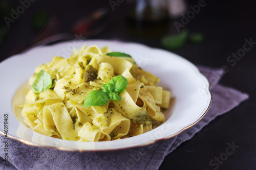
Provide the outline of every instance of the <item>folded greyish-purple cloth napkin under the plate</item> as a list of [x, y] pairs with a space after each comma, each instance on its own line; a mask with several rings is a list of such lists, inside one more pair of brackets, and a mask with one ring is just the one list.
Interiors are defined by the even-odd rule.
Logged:
[[216, 116], [228, 112], [248, 99], [248, 94], [218, 84], [221, 69], [198, 66], [211, 85], [212, 103], [208, 113], [195, 126], [178, 136], [145, 147], [108, 152], [67, 152], [32, 147], [9, 139], [8, 161], [4, 165], [3, 136], [0, 137], [0, 169], [158, 169], [164, 157], [193, 137]]

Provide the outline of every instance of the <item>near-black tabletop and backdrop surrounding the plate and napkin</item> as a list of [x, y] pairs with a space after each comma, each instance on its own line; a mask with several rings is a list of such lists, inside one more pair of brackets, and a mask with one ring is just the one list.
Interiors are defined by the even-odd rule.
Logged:
[[[8, 1], [19, 6], [18, 1]], [[209, 162], [226, 152], [227, 143], [234, 142], [239, 148], [228, 156], [218, 169], [255, 169], [256, 167], [256, 124], [255, 124], [255, 83], [256, 83], [256, 44], [246, 52], [233, 66], [227, 61], [228, 56], [237, 53], [245, 39], [256, 41], [255, 2], [250, 0], [208, 0], [206, 6], [196, 14], [185, 28], [189, 32], [204, 34], [202, 43], [187, 42], [183, 47], [172, 52], [186, 58], [194, 64], [229, 69], [221, 84], [239, 89], [250, 95], [250, 99], [230, 112], [217, 117], [190, 140], [182, 143], [175, 151], [167, 155], [160, 169], [214, 169]], [[188, 1], [197, 5], [198, 1]], [[38, 32], [32, 27], [32, 18], [40, 10], [48, 11], [61, 21], [59, 32], [69, 32], [73, 23], [100, 7], [111, 10], [109, 1], [35, 1], [10, 23], [8, 34], [0, 45], [0, 61], [24, 44], [29, 45]], [[124, 19], [126, 2], [112, 11], [113, 20], [101, 33], [88, 39], [118, 39], [163, 48], [158, 37], [139, 37], [127, 32]], [[1, 28], [6, 27], [3, 14]], [[176, 21], [181, 21], [178, 18]], [[175, 34], [174, 20], [168, 20], [167, 33]], [[4, 81], [4, 80], [2, 80]]]

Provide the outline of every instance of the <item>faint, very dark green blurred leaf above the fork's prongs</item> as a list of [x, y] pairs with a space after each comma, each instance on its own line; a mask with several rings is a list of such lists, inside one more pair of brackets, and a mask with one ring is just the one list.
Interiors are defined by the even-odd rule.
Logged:
[[39, 11], [34, 14], [32, 24], [36, 31], [45, 28], [48, 25], [51, 15], [47, 11]]

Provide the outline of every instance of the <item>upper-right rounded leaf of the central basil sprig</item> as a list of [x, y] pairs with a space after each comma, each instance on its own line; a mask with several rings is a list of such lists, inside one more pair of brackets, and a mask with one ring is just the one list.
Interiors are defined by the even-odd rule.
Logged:
[[114, 92], [121, 93], [126, 88], [128, 81], [123, 76], [115, 76], [113, 77], [109, 83], [114, 85]]

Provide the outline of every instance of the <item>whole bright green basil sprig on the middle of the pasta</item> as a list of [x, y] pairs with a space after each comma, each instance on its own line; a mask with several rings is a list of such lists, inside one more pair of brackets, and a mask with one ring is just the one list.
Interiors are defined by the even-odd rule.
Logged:
[[[121, 101], [121, 97], [118, 95], [123, 92], [126, 88], [128, 81], [123, 76], [115, 76], [113, 77], [109, 83], [103, 84], [101, 90], [93, 90], [91, 91], [86, 99], [84, 99], [82, 106], [103, 106], [108, 102], [109, 99]], [[118, 93], [118, 94], [117, 94]]]

